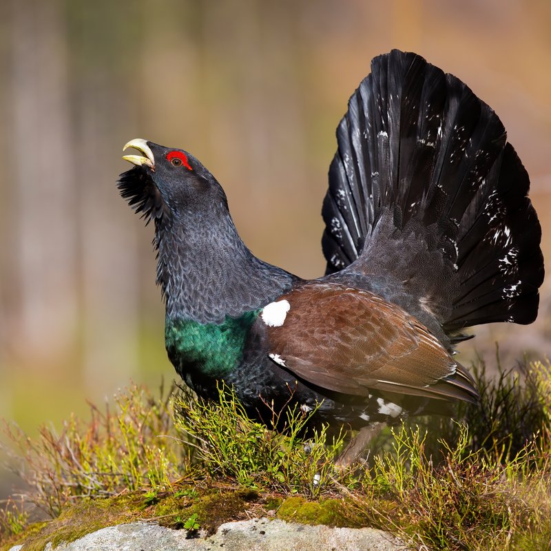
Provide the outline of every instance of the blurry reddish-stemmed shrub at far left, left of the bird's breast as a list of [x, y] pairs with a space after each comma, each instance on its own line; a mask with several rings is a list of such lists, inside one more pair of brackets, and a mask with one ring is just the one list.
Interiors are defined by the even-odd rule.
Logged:
[[28, 499], [53, 518], [76, 499], [170, 486], [185, 473], [186, 457], [163, 394], [134, 386], [116, 397], [114, 410], [90, 405], [89, 422], [73, 416], [61, 433], [43, 427], [37, 439], [6, 424], [12, 468], [32, 488]]

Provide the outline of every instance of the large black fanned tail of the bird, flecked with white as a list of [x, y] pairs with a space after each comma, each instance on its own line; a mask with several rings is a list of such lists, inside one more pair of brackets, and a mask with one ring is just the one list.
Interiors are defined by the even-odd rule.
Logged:
[[327, 273], [391, 274], [447, 332], [532, 322], [541, 229], [501, 121], [416, 54], [393, 50], [371, 71], [337, 129]]

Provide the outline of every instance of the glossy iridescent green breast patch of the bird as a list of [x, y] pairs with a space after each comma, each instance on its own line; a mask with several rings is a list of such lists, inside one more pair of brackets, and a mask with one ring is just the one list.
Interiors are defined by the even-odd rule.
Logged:
[[167, 319], [165, 345], [171, 362], [183, 371], [196, 370], [208, 377], [230, 373], [242, 359], [247, 335], [259, 312], [227, 317], [220, 325]]

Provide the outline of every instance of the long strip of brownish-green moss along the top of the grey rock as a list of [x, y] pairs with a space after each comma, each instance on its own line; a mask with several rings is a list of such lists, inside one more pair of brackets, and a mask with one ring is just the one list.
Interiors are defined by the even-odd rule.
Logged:
[[[171, 492], [134, 492], [117, 497], [81, 501], [66, 508], [61, 515], [40, 523], [18, 541], [24, 541], [23, 551], [42, 551], [46, 543], [56, 547], [63, 542], [79, 539], [107, 526], [141, 520], [152, 520], [161, 526], [182, 529], [185, 521], [197, 515], [197, 522], [207, 534], [216, 532], [220, 524], [246, 518], [245, 511], [262, 516], [267, 510], [277, 510], [283, 520], [327, 526], [365, 526], [365, 519], [344, 499], [307, 501], [302, 497], [284, 499], [279, 495], [260, 498], [248, 489], [196, 488], [179, 486]], [[6, 550], [9, 547], [6, 547]], [[3, 550], [2, 550], [3, 551]]]

